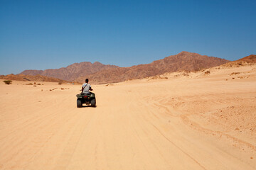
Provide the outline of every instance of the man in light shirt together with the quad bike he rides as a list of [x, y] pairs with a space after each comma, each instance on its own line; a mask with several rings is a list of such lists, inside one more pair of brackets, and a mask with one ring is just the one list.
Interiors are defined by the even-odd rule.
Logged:
[[82, 84], [82, 92], [76, 95], [78, 97], [78, 108], [82, 108], [82, 103], [85, 103], [86, 105], [91, 105], [92, 107], [96, 107], [95, 94], [90, 92], [93, 91], [93, 89], [88, 82], [89, 80], [85, 79], [85, 84]]

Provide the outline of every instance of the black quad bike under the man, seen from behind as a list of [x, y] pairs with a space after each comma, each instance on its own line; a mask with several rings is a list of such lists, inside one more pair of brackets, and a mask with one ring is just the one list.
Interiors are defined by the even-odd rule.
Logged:
[[82, 108], [82, 103], [85, 103], [86, 105], [91, 105], [92, 107], [96, 107], [96, 97], [95, 94], [90, 93], [90, 94], [77, 94], [76, 95], [78, 100], [77, 100], [77, 106], [78, 108]]

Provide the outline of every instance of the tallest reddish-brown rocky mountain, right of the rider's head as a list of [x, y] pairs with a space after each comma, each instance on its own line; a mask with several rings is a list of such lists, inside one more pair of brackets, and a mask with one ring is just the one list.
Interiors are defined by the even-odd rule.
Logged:
[[171, 55], [162, 60], [156, 60], [150, 64], [139, 64], [133, 67], [117, 67], [105, 69], [87, 77], [79, 77], [76, 81], [83, 82], [85, 78], [95, 84], [106, 84], [129, 79], [143, 79], [153, 77], [166, 72], [177, 72], [181, 70], [193, 71], [197, 69], [215, 67], [229, 62], [217, 57], [198, 55], [193, 52], [180, 52], [178, 55]]

